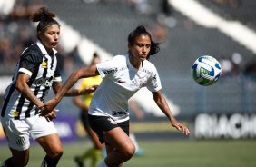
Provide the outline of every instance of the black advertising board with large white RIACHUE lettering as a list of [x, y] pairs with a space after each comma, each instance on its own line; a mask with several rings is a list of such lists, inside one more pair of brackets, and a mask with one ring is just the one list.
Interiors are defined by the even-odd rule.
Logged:
[[255, 114], [198, 114], [195, 118], [197, 139], [245, 139], [256, 137]]

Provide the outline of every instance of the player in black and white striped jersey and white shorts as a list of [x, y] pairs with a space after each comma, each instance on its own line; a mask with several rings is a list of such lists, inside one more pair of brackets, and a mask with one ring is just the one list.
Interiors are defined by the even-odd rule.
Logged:
[[[54, 167], [63, 154], [62, 144], [52, 119], [53, 111], [39, 116], [38, 106], [44, 104], [44, 96], [53, 87], [54, 93], [62, 86], [58, 70], [56, 48], [60, 25], [44, 6], [32, 16], [37, 25], [38, 41], [22, 53], [16, 65], [13, 82], [7, 87], [2, 106], [1, 123], [12, 157], [1, 166], [25, 166], [29, 157], [29, 137], [38, 142], [46, 152], [42, 166]], [[65, 95], [74, 96], [94, 92], [97, 86], [84, 90], [69, 90]]]

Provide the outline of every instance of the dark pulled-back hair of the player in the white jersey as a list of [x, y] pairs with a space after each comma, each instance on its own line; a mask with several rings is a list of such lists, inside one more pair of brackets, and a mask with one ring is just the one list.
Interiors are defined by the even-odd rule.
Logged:
[[[135, 30], [133, 30], [132, 33], [129, 34], [128, 43], [133, 45], [135, 38], [142, 34], [148, 35], [151, 40], [151, 49], [150, 49], [149, 54], [147, 55], [147, 60], [149, 60], [151, 55], [156, 54], [160, 51], [160, 47], [159, 47], [160, 43], [155, 43], [152, 41], [151, 34], [149, 34], [149, 32], [147, 32], [147, 30], [143, 27], [143, 25], [138, 26]], [[130, 52], [128, 51], [128, 53], [130, 53]]]

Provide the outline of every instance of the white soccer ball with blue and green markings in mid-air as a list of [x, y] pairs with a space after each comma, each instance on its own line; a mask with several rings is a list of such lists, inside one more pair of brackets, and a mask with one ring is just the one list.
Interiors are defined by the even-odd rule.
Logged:
[[221, 74], [221, 64], [209, 55], [199, 57], [192, 65], [192, 78], [202, 86], [209, 86], [216, 83]]

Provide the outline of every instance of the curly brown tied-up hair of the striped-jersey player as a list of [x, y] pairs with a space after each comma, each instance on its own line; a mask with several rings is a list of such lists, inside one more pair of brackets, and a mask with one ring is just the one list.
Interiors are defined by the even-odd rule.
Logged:
[[55, 16], [56, 14], [50, 12], [45, 6], [42, 6], [30, 16], [30, 20], [32, 22], [39, 22], [37, 32], [43, 32], [49, 26], [59, 25], [59, 23], [54, 20]]

